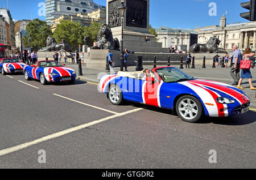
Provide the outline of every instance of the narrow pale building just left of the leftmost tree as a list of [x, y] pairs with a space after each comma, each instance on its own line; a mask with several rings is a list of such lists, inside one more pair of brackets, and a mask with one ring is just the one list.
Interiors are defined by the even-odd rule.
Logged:
[[22, 38], [23, 36], [26, 35], [26, 29], [27, 29], [27, 24], [31, 22], [31, 20], [19, 20], [18, 22], [15, 23], [15, 44], [16, 48], [22, 52], [22, 50], [28, 50], [29, 48], [25, 48]]

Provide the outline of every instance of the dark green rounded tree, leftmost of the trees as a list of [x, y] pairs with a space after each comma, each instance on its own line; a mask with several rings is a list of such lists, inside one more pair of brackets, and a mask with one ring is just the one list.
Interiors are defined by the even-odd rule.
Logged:
[[45, 21], [33, 19], [27, 24], [26, 35], [22, 38], [25, 46], [29, 46], [29, 35], [31, 35], [32, 48], [39, 49], [46, 47], [46, 39], [52, 35], [52, 31]]

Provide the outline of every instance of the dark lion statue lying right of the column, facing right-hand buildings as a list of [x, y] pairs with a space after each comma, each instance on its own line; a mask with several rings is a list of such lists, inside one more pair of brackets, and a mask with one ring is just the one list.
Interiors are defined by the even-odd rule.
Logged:
[[218, 45], [220, 45], [220, 42], [216, 36], [213, 36], [207, 44], [193, 44], [189, 51], [190, 53], [219, 53]]

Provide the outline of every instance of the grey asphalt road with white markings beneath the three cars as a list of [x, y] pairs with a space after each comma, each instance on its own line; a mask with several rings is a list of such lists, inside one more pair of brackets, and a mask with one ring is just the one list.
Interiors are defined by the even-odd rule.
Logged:
[[0, 92], [0, 168], [256, 168], [253, 111], [187, 123], [170, 110], [113, 106], [93, 83], [23, 75], [0, 75]]

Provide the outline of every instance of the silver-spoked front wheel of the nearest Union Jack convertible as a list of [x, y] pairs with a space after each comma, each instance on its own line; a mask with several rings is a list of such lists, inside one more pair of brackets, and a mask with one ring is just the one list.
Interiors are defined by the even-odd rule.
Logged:
[[185, 122], [199, 122], [204, 110], [200, 100], [193, 96], [181, 96], [176, 103], [176, 113]]

